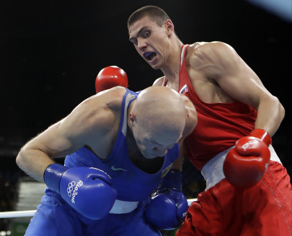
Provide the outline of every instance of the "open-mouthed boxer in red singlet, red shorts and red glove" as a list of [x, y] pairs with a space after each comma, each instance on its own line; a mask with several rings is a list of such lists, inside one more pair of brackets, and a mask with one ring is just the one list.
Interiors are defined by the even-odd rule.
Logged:
[[153, 85], [185, 94], [198, 113], [184, 152], [207, 187], [176, 236], [291, 235], [290, 177], [270, 144], [285, 114], [280, 101], [228, 44], [183, 45], [161, 8], [138, 9], [128, 30], [164, 74]]

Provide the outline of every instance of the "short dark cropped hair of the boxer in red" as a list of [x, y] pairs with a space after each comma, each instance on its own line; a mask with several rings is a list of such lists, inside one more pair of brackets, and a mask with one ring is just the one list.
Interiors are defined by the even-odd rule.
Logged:
[[152, 21], [156, 22], [157, 25], [162, 27], [166, 20], [170, 20], [169, 16], [161, 8], [157, 6], [144, 6], [133, 12], [128, 19], [128, 29], [138, 20], [144, 16], [148, 16]]

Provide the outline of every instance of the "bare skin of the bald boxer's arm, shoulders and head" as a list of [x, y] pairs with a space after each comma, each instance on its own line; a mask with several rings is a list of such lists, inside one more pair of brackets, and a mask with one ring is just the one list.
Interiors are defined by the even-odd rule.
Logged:
[[[172, 89], [161, 88], [145, 89], [141, 92], [141, 96], [139, 95], [131, 103], [127, 113], [129, 157], [133, 164], [138, 160], [140, 166], [146, 167], [145, 171], [149, 172], [153, 171], [151, 168], [155, 168], [155, 163], [159, 163], [162, 153], [166, 153], [167, 149], [177, 142], [182, 144], [183, 139], [196, 126], [197, 120], [196, 110], [193, 104], [188, 102], [186, 96], [181, 96]], [[67, 156], [81, 147], [88, 148], [105, 160], [109, 157], [116, 140], [125, 91], [125, 88], [115, 87], [89, 97], [67, 117], [26, 143], [16, 157], [16, 163], [27, 174], [43, 182], [44, 171], [48, 165], [54, 163], [51, 158]], [[138, 114], [134, 105], [138, 102], [144, 106], [146, 103], [143, 99], [152, 104], [152, 109]], [[155, 99], [162, 101], [155, 102]], [[163, 110], [161, 106], [169, 106], [170, 113], [161, 112], [159, 116], [158, 113], [152, 114], [152, 110]], [[147, 119], [142, 119], [148, 116], [153, 118], [157, 116], [157, 119], [171, 126], [166, 125], [158, 129], [157, 126], [149, 125]], [[140, 128], [137, 132], [135, 130], [137, 127], [148, 128]], [[161, 139], [158, 135], [161, 132], [169, 134], [169, 138]], [[152, 143], [148, 140], [152, 140]], [[141, 153], [145, 153], [145, 156]]]

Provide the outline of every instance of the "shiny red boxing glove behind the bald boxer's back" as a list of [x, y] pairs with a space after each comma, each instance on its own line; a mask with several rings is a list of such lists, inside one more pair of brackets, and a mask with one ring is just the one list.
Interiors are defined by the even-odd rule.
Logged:
[[117, 66], [107, 66], [99, 71], [95, 80], [96, 93], [115, 86], [128, 87], [128, 77], [126, 72]]

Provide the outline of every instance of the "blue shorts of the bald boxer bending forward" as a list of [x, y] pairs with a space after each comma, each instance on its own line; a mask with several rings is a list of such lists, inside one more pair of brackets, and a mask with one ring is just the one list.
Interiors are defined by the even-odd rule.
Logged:
[[91, 220], [78, 214], [54, 191], [46, 188], [45, 193], [25, 236], [163, 236], [145, 219], [144, 210], [150, 199], [140, 202], [130, 213]]

